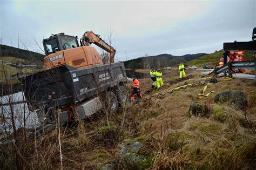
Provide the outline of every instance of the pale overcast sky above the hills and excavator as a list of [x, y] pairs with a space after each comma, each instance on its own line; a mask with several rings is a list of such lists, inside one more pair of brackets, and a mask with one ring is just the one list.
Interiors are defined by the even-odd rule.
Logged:
[[220, 50], [224, 42], [251, 40], [256, 0], [241, 1], [5, 1], [0, 0], [2, 44], [36, 51], [52, 33], [107, 39], [116, 60], [145, 54], [185, 55]]

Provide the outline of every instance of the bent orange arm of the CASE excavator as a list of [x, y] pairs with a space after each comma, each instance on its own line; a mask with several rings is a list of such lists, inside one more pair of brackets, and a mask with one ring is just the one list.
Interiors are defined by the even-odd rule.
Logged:
[[81, 46], [90, 46], [91, 44], [99, 46], [103, 50], [110, 53], [108, 62], [114, 62], [114, 55], [116, 54], [116, 50], [112, 46], [107, 44], [102, 38], [100, 38], [99, 35], [96, 35], [94, 32], [86, 31], [83, 37], [80, 39], [80, 44]]

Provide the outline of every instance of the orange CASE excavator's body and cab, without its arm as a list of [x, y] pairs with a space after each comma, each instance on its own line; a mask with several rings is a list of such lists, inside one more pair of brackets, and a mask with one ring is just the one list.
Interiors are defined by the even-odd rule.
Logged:
[[93, 65], [102, 65], [100, 55], [92, 46], [79, 46], [78, 38], [58, 33], [43, 40], [46, 57], [45, 69], [61, 65], [70, 65], [77, 69]]

